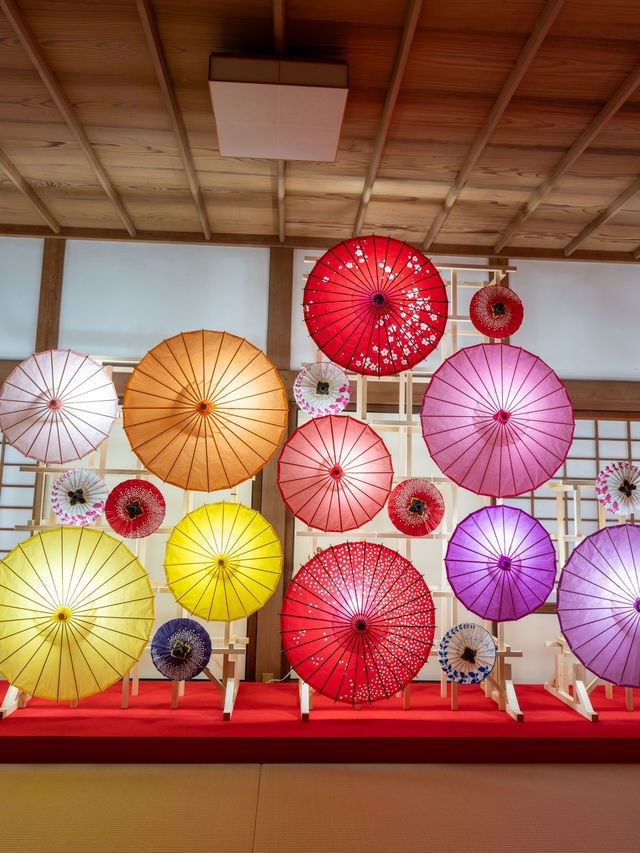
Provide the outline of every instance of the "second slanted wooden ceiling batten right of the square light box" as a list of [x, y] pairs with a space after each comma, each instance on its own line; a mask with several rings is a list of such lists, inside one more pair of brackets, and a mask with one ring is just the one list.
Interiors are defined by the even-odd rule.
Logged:
[[544, 10], [542, 11], [540, 17], [536, 21], [536, 24], [531, 31], [529, 38], [527, 39], [527, 43], [522, 49], [520, 56], [516, 60], [515, 65], [511, 69], [511, 73], [507, 77], [507, 80], [500, 91], [500, 94], [496, 98], [491, 112], [486, 118], [484, 125], [482, 126], [482, 130], [476, 137], [473, 145], [467, 157], [462, 164], [462, 168], [458, 172], [458, 175], [451, 185], [449, 192], [447, 193], [447, 197], [444, 200], [444, 203], [438, 213], [436, 214], [435, 219], [431, 224], [431, 228], [429, 229], [429, 233], [424, 238], [424, 242], [422, 244], [422, 248], [424, 251], [427, 251], [431, 248], [431, 244], [438, 236], [438, 233], [444, 223], [449, 216], [449, 212], [451, 208], [456, 203], [458, 196], [462, 192], [467, 180], [469, 179], [469, 175], [473, 170], [474, 166], [480, 159], [482, 152], [484, 151], [493, 131], [498, 126], [499, 121], [504, 115], [505, 110], [509, 106], [511, 99], [513, 98], [518, 86], [520, 85], [522, 78], [527, 73], [531, 63], [533, 62], [540, 45], [544, 41], [547, 33], [551, 29], [553, 22], [558, 17], [558, 13], [562, 9], [565, 0], [549, 0]]

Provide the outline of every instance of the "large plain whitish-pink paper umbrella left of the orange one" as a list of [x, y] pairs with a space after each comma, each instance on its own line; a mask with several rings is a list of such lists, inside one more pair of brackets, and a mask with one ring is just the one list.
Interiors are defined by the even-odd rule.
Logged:
[[99, 447], [118, 414], [105, 370], [87, 355], [48, 350], [19, 364], [0, 391], [0, 430], [39, 462], [81, 459]]

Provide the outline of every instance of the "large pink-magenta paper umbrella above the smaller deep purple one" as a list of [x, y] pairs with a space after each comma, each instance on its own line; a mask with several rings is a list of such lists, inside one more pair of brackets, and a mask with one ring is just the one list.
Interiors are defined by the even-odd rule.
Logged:
[[509, 344], [479, 344], [448, 358], [427, 387], [421, 420], [438, 468], [496, 498], [546, 483], [573, 440], [566, 388], [542, 359]]

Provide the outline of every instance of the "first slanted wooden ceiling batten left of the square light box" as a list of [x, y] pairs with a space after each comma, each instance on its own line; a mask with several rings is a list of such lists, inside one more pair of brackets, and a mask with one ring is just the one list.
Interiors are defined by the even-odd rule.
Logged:
[[171, 127], [178, 144], [178, 153], [180, 155], [180, 160], [182, 161], [182, 167], [185, 171], [189, 190], [191, 191], [191, 195], [193, 196], [193, 201], [198, 212], [198, 218], [200, 219], [200, 225], [202, 226], [202, 233], [207, 240], [210, 240], [211, 225], [209, 224], [209, 218], [207, 216], [207, 209], [204, 203], [198, 173], [196, 172], [196, 167], [193, 162], [191, 148], [189, 145], [189, 137], [187, 136], [187, 130], [184, 125], [182, 113], [180, 112], [180, 107], [178, 106], [175, 90], [171, 81], [171, 75], [169, 74], [169, 66], [167, 65], [167, 58], [160, 40], [160, 33], [158, 31], [158, 24], [156, 22], [153, 7], [151, 6], [150, 0], [136, 0], [136, 5], [138, 7], [138, 15], [140, 16], [142, 29], [147, 40], [147, 47], [149, 48], [153, 67], [158, 78], [160, 91], [162, 92], [162, 97], [164, 99], [165, 108], [169, 114]]

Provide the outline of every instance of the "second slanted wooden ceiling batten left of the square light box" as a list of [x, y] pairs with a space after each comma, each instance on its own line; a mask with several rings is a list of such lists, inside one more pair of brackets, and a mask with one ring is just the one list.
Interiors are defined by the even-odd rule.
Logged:
[[62, 86], [60, 85], [58, 78], [53, 73], [51, 66], [47, 62], [47, 59], [42, 52], [40, 45], [38, 44], [36, 37], [34, 36], [31, 28], [27, 24], [27, 21], [18, 8], [15, 0], [0, 0], [0, 8], [4, 12], [7, 20], [11, 24], [15, 34], [18, 36], [20, 43], [22, 44], [27, 56], [29, 57], [32, 65], [40, 75], [42, 82], [46, 86], [49, 94], [53, 98], [58, 110], [62, 114], [65, 122], [71, 133], [73, 134], [74, 139], [80, 146], [83, 154], [89, 161], [89, 164], [93, 170], [94, 175], [96, 176], [98, 183], [102, 187], [102, 189], [107, 194], [107, 197], [115, 207], [118, 216], [122, 220], [124, 227], [127, 229], [127, 232], [134, 237], [136, 234], [136, 229], [127, 213], [122, 201], [118, 193], [116, 192], [115, 187], [111, 183], [109, 176], [105, 172], [102, 163], [98, 159], [96, 153], [93, 150], [91, 143], [89, 142], [89, 138], [84, 131], [84, 128], [76, 118], [75, 112], [71, 105], [71, 102], [65, 95]]

